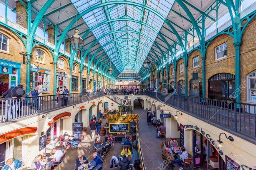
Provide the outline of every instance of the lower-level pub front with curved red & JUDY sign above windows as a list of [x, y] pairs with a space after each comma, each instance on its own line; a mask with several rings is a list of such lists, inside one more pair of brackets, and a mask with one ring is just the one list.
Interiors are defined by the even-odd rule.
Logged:
[[0, 135], [0, 166], [9, 158], [26, 161], [26, 155], [30, 154], [26, 140], [35, 135], [36, 130], [37, 127], [24, 127]]

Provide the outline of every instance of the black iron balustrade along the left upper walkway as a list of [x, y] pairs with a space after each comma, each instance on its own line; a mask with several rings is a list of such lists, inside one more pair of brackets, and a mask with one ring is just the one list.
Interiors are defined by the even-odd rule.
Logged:
[[[104, 91], [47, 95], [27, 98], [4, 98], [0, 100], [0, 123], [17, 118], [48, 112], [66, 106], [83, 103], [104, 96]], [[38, 109], [34, 105], [38, 103]]]

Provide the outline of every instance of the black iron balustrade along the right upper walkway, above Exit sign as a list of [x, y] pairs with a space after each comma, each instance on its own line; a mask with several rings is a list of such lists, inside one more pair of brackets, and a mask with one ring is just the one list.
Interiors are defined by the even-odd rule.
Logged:
[[256, 139], [256, 105], [146, 91], [146, 95], [173, 108], [196, 115], [240, 134]]

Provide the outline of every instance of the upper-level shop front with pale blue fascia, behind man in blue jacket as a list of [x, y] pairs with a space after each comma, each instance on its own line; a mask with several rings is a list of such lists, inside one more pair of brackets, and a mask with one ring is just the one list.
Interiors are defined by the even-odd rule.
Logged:
[[42, 85], [44, 89], [43, 92], [50, 91], [50, 70], [42, 68], [30, 69], [30, 90], [35, 89], [35, 87]]

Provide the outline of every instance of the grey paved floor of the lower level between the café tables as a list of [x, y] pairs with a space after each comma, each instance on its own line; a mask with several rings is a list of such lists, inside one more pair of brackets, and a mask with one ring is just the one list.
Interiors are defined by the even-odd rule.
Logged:
[[[144, 155], [144, 162], [146, 165], [147, 170], [162, 170], [167, 169], [166, 167], [162, 167], [163, 159], [161, 156], [161, 147], [160, 144], [167, 140], [166, 138], [157, 139], [156, 138], [156, 130], [153, 126], [147, 125], [146, 120], [146, 111], [139, 105], [138, 102], [134, 102], [134, 114], [139, 114], [139, 137], [141, 140], [141, 147]], [[102, 121], [102, 124], [105, 124], [106, 119]], [[87, 157], [87, 159], [91, 159], [89, 156], [88, 145], [91, 146], [94, 143], [94, 140], [91, 139], [89, 135], [89, 128], [87, 128], [88, 134], [85, 136], [84, 141], [82, 142], [82, 146], [79, 146], [79, 149], [70, 149], [67, 150], [67, 157], [66, 157], [66, 165], [60, 165], [60, 169], [64, 170], [73, 170], [75, 168], [75, 160], [78, 157], [79, 153], [82, 153]], [[97, 136], [95, 136], [97, 137]], [[103, 137], [102, 137], [103, 139]], [[177, 139], [179, 140], [179, 139]], [[113, 154], [119, 154], [121, 152], [122, 145], [121, 142], [116, 142], [114, 147], [112, 147], [111, 152], [106, 157], [106, 161], [104, 163], [104, 170], [110, 170], [109, 161]], [[205, 166], [198, 168], [198, 170], [206, 169]], [[178, 170], [178, 166], [174, 170]]]

